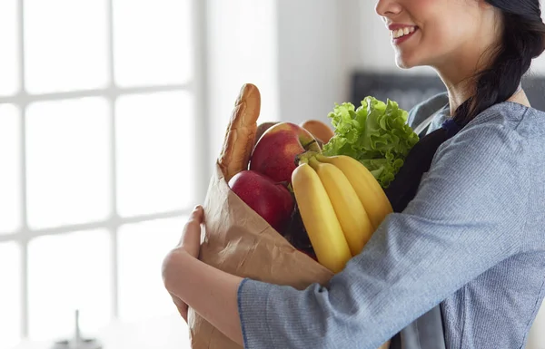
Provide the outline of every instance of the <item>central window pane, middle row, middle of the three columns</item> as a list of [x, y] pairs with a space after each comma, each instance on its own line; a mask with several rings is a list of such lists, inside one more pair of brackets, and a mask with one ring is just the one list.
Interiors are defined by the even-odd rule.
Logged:
[[107, 102], [36, 102], [28, 108], [26, 128], [29, 225], [45, 228], [107, 218]]

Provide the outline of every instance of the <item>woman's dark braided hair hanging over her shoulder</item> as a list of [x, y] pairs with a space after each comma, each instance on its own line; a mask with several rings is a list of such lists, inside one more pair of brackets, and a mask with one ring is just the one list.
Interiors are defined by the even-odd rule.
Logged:
[[481, 111], [507, 101], [519, 88], [531, 61], [545, 49], [545, 24], [539, 0], [486, 0], [502, 16], [502, 37], [492, 50], [488, 68], [475, 77], [472, 96], [455, 111], [454, 121], [463, 127]]

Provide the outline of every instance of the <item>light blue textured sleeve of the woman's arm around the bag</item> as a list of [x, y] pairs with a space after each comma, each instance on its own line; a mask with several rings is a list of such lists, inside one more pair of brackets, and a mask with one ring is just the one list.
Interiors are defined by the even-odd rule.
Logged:
[[441, 145], [409, 206], [327, 285], [244, 279], [244, 347], [376, 349], [514, 255], [529, 192], [524, 143], [502, 123], [466, 129]]

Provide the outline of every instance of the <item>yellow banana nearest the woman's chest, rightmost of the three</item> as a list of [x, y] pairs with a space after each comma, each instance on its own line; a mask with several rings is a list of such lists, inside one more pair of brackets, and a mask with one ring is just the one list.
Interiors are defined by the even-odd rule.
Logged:
[[325, 156], [315, 155], [316, 160], [335, 165], [350, 181], [352, 188], [358, 194], [363, 208], [369, 216], [374, 229], [393, 211], [391, 203], [381, 185], [372, 173], [362, 164], [347, 155]]

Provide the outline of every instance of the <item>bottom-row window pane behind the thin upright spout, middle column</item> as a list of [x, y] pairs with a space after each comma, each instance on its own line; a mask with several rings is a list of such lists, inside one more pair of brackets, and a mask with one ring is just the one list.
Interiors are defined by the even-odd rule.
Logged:
[[85, 335], [111, 316], [110, 236], [104, 230], [31, 240], [28, 246], [29, 330], [33, 340], [74, 334], [80, 309]]

